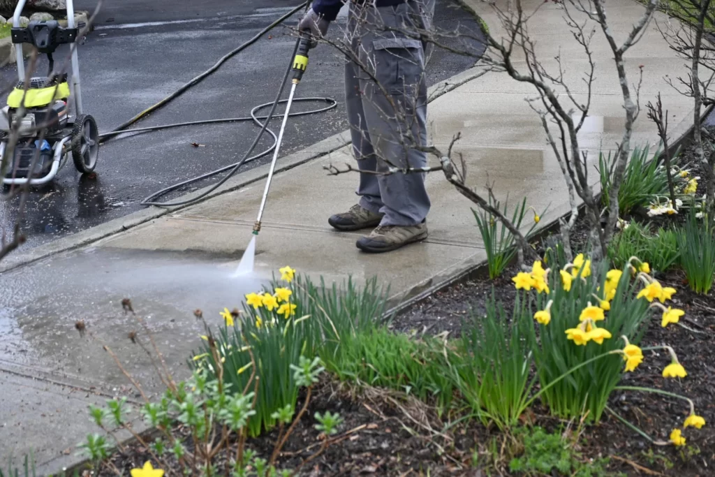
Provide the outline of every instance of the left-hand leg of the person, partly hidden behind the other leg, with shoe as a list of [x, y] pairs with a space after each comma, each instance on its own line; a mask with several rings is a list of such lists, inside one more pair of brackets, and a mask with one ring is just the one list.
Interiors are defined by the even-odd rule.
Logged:
[[[345, 41], [350, 44], [352, 54], [357, 55], [360, 50], [360, 35], [357, 31], [358, 17], [360, 9], [351, 6], [350, 17], [347, 24], [347, 34]], [[357, 57], [357, 56], [356, 56]], [[360, 68], [354, 61], [346, 59], [345, 62], [345, 108], [347, 109], [347, 120], [350, 124], [350, 136], [352, 139], [352, 154], [358, 160], [358, 169], [375, 172], [377, 170], [378, 158], [375, 157], [373, 144], [370, 144], [370, 134], [365, 122], [365, 112], [363, 111], [363, 98], [360, 92], [359, 81]], [[328, 223], [337, 230], [359, 230], [368, 227], [375, 227], [380, 224], [383, 215], [380, 209], [383, 201], [380, 198], [380, 185], [375, 174], [360, 174], [360, 184], [356, 193], [360, 196], [360, 202], [342, 214], [332, 215]]]

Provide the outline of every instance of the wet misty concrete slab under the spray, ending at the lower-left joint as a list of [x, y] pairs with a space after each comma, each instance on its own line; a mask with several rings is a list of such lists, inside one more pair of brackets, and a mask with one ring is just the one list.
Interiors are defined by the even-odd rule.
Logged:
[[[191, 254], [87, 250], [55, 257], [0, 276], [0, 359], [49, 373], [98, 383], [125, 378], [102, 349], [108, 345], [130, 372], [154, 384], [151, 360], [129, 340], [149, 337], [122, 300], [149, 328], [169, 366], [185, 370], [199, 348], [204, 322], [223, 325], [220, 311], [241, 308], [245, 294], [258, 291], [270, 277], [234, 277], [237, 262], [205, 260]], [[75, 328], [82, 320], [81, 337]]]

